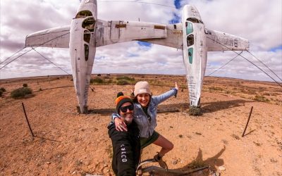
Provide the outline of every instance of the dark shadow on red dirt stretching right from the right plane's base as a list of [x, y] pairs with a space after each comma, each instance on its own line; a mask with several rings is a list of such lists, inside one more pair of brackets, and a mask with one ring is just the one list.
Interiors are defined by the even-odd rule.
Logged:
[[232, 101], [213, 101], [202, 103], [202, 113], [214, 113], [216, 111], [221, 111], [227, 108], [235, 108], [239, 106], [244, 106], [245, 103], [250, 103], [255, 101], [246, 101], [242, 99], [232, 100]]

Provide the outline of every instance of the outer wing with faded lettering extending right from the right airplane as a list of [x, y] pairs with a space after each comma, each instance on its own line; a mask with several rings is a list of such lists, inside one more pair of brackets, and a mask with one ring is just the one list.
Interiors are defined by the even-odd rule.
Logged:
[[249, 51], [249, 41], [233, 34], [205, 30], [207, 51]]

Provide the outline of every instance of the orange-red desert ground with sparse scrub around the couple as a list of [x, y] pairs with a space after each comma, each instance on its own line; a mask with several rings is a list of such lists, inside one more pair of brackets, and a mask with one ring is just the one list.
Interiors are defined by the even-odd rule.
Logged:
[[[278, 84], [204, 77], [203, 115], [192, 116], [185, 76], [126, 75], [130, 84], [116, 84], [123, 76], [92, 75], [96, 81], [90, 86], [88, 114], [78, 114], [71, 77], [0, 80], [0, 87], [6, 89], [0, 98], [0, 175], [114, 175], [107, 125], [116, 94], [129, 95], [139, 80], [149, 81], [154, 95], [166, 92], [174, 82], [180, 86], [178, 96], [158, 108], [156, 130], [174, 144], [164, 156], [168, 168], [210, 165], [209, 170], [193, 175], [282, 175], [282, 88]], [[32, 89], [32, 95], [11, 98], [11, 92], [23, 84]], [[148, 146], [142, 160], [159, 150]]]

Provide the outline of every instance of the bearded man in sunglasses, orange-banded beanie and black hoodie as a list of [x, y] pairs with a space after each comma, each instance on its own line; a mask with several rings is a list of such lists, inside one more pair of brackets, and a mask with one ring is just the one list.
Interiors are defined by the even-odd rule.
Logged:
[[[108, 134], [113, 145], [113, 160], [111, 166], [116, 175], [135, 175], [140, 161], [140, 132], [133, 120], [133, 101], [129, 96], [118, 92], [116, 98], [116, 111], [121, 115], [128, 130], [119, 132], [114, 122], [108, 126]], [[122, 124], [121, 124], [122, 125]]]

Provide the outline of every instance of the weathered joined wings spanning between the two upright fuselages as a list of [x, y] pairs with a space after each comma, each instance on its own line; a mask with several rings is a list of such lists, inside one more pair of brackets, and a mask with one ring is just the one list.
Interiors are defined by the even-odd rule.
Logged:
[[163, 25], [133, 21], [97, 20], [96, 46], [120, 42], [144, 41], [182, 49], [181, 24]]

